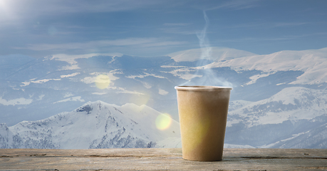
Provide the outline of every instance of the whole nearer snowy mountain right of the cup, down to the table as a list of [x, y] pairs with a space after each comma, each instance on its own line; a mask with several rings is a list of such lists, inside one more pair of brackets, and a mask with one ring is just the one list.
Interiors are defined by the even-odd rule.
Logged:
[[232, 101], [229, 110], [227, 143], [254, 147], [327, 147], [327, 90], [284, 88], [271, 98], [257, 102]]

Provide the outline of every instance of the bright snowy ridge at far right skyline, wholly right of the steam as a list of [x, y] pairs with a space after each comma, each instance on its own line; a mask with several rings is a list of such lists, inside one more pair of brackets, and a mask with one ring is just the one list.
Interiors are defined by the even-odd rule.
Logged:
[[318, 84], [327, 82], [327, 48], [306, 51], [279, 51], [268, 55], [232, 58], [229, 61], [214, 61], [206, 67], [231, 67], [236, 71], [259, 70], [303, 71], [292, 84]]

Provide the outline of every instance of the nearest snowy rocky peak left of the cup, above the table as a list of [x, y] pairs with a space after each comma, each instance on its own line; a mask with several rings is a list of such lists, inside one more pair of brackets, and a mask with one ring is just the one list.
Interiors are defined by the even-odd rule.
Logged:
[[1, 124], [0, 144], [6, 148], [155, 147], [157, 141], [180, 137], [175, 120], [167, 130], [155, 128], [159, 114], [145, 105], [88, 102], [44, 120], [24, 121], [9, 128]]

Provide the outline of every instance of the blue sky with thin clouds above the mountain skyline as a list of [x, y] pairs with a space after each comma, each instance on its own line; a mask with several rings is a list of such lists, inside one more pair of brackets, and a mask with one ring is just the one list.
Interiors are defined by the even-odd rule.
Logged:
[[165, 56], [209, 46], [257, 54], [327, 47], [326, 0], [0, 0], [0, 56]]

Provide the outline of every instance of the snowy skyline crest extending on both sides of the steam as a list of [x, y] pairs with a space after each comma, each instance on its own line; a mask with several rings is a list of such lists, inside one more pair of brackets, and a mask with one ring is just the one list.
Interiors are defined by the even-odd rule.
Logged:
[[[197, 48], [170, 53], [167, 56], [177, 62], [197, 61], [201, 59], [201, 53], [201, 48]], [[233, 48], [212, 47], [211, 56], [205, 59], [213, 61], [204, 66], [205, 68], [231, 67], [236, 71], [264, 71], [259, 78], [269, 76], [275, 71], [303, 71], [303, 75], [291, 84], [327, 83], [327, 48], [256, 55]]]

